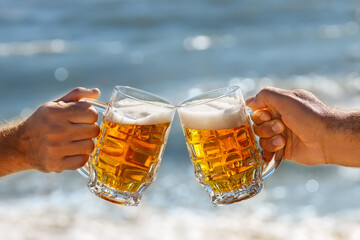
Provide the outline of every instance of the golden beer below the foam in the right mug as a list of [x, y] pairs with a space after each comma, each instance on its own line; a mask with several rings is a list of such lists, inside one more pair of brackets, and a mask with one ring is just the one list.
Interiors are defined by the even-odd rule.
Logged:
[[250, 124], [184, 132], [195, 174], [211, 195], [246, 189], [259, 178], [261, 158]]

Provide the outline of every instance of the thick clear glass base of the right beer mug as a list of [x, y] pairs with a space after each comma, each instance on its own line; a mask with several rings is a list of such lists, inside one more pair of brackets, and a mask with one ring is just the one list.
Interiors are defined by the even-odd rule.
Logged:
[[211, 202], [215, 206], [240, 202], [257, 195], [263, 188], [262, 182], [253, 182], [248, 186], [230, 192], [214, 192], [209, 186], [203, 185], [211, 197]]

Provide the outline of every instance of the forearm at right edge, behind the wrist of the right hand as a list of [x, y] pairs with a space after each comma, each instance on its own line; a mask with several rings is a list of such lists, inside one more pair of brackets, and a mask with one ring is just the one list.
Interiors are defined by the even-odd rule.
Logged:
[[360, 111], [337, 111], [327, 128], [327, 163], [360, 167]]

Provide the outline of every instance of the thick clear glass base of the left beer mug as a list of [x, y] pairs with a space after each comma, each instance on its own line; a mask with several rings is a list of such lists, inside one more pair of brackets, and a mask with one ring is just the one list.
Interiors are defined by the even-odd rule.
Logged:
[[100, 181], [89, 182], [88, 187], [96, 196], [112, 203], [125, 206], [137, 206], [140, 203], [141, 195], [138, 193], [122, 192], [106, 186]]

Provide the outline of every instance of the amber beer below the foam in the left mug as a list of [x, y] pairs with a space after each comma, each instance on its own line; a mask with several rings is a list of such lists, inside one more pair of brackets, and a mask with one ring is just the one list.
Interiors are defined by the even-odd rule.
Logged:
[[[97, 184], [113, 191], [110, 195], [137, 195], [146, 190], [156, 176], [169, 126], [170, 122], [135, 125], [105, 120], [90, 160]], [[117, 202], [106, 193], [100, 197]]]

